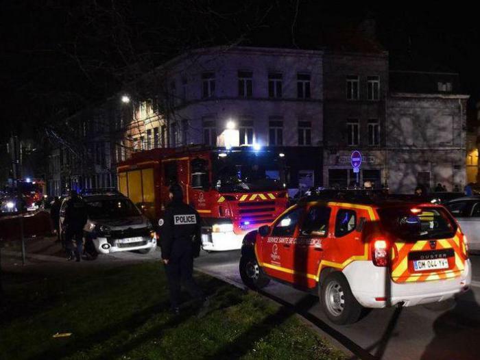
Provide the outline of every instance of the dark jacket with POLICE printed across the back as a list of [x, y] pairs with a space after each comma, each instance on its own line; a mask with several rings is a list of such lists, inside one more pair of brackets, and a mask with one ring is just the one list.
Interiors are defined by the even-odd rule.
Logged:
[[190, 205], [173, 201], [165, 209], [160, 226], [160, 248], [163, 259], [170, 259], [191, 251], [200, 255], [202, 224], [200, 215]]

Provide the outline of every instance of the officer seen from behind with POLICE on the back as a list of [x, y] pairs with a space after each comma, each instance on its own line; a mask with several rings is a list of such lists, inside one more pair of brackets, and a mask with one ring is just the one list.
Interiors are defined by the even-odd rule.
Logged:
[[195, 300], [206, 300], [204, 293], [193, 280], [193, 258], [200, 255], [200, 216], [193, 207], [183, 202], [180, 185], [171, 185], [171, 202], [165, 209], [160, 227], [160, 247], [170, 289], [173, 313], [180, 313], [180, 284]]

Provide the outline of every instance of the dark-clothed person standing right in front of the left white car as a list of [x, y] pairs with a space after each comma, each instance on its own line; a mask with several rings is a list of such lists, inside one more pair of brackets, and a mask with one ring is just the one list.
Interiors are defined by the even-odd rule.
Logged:
[[[78, 196], [75, 190], [71, 190], [70, 198], [65, 207], [65, 218], [63, 226], [65, 228], [65, 243], [69, 260], [75, 255], [77, 261], [82, 258], [84, 226], [86, 224], [87, 214], [86, 205], [82, 198]], [[73, 250], [73, 240], [75, 240], [75, 250]]]

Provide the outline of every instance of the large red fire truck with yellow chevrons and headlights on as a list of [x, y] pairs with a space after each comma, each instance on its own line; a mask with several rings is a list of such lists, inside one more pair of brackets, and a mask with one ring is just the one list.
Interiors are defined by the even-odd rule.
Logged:
[[119, 164], [119, 191], [156, 223], [178, 183], [202, 216], [204, 250], [239, 249], [245, 233], [287, 208], [283, 156], [244, 147], [141, 151]]

